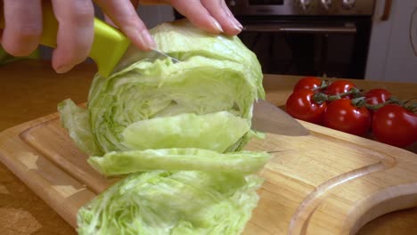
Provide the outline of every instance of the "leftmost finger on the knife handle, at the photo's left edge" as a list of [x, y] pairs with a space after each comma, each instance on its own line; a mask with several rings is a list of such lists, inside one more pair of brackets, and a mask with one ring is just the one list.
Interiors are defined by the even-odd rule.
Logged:
[[41, 0], [4, 0], [2, 46], [13, 56], [29, 55], [42, 35]]

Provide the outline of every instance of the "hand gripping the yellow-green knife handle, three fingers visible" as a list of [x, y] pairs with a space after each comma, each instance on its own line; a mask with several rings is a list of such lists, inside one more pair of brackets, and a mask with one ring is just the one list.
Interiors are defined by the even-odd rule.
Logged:
[[[149, 50], [155, 45], [130, 0], [94, 2], [139, 48]], [[59, 24], [56, 48], [52, 56], [53, 69], [58, 73], [67, 72], [76, 64], [86, 60], [93, 44], [92, 0], [4, 0], [5, 27], [1, 44], [4, 50], [13, 56], [25, 56], [33, 52], [39, 45], [42, 35], [42, 4], [52, 4], [53, 13]]]

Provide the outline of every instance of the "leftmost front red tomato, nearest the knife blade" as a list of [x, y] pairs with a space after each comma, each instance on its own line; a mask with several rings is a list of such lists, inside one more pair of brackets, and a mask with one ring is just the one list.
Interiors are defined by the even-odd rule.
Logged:
[[298, 118], [307, 122], [321, 124], [323, 111], [326, 103], [317, 104], [313, 100], [315, 92], [308, 89], [300, 89], [290, 95], [286, 102], [287, 112], [293, 118]]

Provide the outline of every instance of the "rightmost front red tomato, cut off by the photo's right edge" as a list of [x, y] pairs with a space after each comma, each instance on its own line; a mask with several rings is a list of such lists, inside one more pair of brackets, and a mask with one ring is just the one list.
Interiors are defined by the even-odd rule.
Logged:
[[417, 141], [417, 115], [397, 104], [387, 104], [374, 112], [372, 133], [379, 142], [405, 147]]

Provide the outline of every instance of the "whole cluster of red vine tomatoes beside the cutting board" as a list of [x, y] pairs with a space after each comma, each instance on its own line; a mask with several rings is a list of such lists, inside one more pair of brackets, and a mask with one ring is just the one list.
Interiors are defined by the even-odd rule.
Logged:
[[286, 102], [293, 117], [397, 147], [417, 141], [416, 103], [400, 101], [386, 89], [360, 90], [347, 80], [303, 77]]

